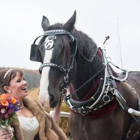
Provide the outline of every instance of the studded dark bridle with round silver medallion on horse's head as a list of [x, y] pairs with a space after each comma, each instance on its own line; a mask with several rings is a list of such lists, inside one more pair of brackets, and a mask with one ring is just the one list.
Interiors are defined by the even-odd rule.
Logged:
[[61, 94], [64, 95], [66, 93], [66, 88], [68, 86], [69, 72], [73, 68], [75, 55], [77, 53], [77, 39], [70, 32], [68, 32], [66, 30], [62, 30], [62, 29], [48, 30], [48, 31], [45, 31], [43, 35], [38, 36], [35, 39], [33, 45], [35, 45], [35, 42], [37, 41], [38, 38], [43, 36], [43, 37], [47, 38], [46, 42], [45, 42], [45, 49], [50, 50], [54, 47], [55, 37], [59, 36], [59, 35], [67, 35], [70, 38], [71, 58], [70, 58], [69, 62], [67, 63], [67, 65], [65, 67], [62, 65], [54, 64], [54, 63], [43, 63], [39, 68], [39, 72], [41, 74], [44, 67], [58, 68], [60, 71], [62, 71], [64, 73], [64, 78], [63, 78], [63, 82], [60, 86], [60, 91], [61, 91]]

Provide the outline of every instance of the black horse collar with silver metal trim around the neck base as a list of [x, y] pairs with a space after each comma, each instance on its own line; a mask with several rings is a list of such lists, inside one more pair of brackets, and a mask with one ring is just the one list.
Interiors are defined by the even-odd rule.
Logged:
[[[101, 51], [101, 49], [99, 49], [99, 51]], [[112, 94], [112, 90], [114, 89], [114, 84], [110, 79], [110, 75], [108, 72], [109, 67], [104, 56], [102, 57], [102, 61], [103, 61], [103, 67], [101, 68], [100, 71], [98, 71], [95, 75], [93, 75], [89, 80], [87, 80], [81, 87], [79, 87], [73, 93], [65, 97], [65, 102], [68, 108], [70, 108], [70, 110], [76, 113], [81, 113], [81, 115], [85, 116], [90, 112], [102, 108], [103, 106], [107, 105], [114, 99], [114, 95]], [[93, 96], [91, 96], [86, 101], [76, 101], [72, 98], [72, 96], [75, 95], [75, 93], [78, 90], [80, 90], [91, 80], [95, 79], [103, 71], [104, 71], [104, 76], [100, 77], [99, 86]], [[99, 89], [101, 89], [101, 93], [99, 93]]]

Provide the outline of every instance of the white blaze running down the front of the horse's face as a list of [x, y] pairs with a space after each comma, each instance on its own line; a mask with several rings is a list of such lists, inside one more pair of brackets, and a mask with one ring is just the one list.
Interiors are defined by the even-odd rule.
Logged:
[[[47, 39], [46, 39], [47, 40]], [[45, 40], [45, 41], [46, 41]], [[43, 63], [49, 63], [52, 57], [52, 50], [45, 49], [45, 56]], [[41, 79], [40, 79], [40, 91], [39, 91], [39, 101], [43, 104], [45, 108], [50, 108], [49, 102], [49, 94], [48, 94], [48, 74], [49, 74], [50, 67], [44, 67], [42, 69]]]

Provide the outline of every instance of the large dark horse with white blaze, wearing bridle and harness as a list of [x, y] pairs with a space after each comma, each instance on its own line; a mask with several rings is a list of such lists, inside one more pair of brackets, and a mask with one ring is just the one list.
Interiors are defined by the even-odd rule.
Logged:
[[43, 17], [44, 34], [30, 55], [42, 63], [40, 101], [54, 108], [65, 100], [74, 140], [136, 140], [140, 72], [116, 73], [104, 51], [74, 27], [75, 21], [76, 11], [65, 24], [50, 25]]

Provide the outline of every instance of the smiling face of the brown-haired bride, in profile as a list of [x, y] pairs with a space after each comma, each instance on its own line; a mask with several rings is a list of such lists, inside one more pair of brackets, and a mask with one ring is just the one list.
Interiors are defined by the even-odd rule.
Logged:
[[12, 96], [19, 99], [22, 99], [28, 95], [27, 82], [24, 80], [23, 76], [20, 76], [18, 72], [16, 73], [16, 76], [10, 81], [8, 91], [10, 91]]

